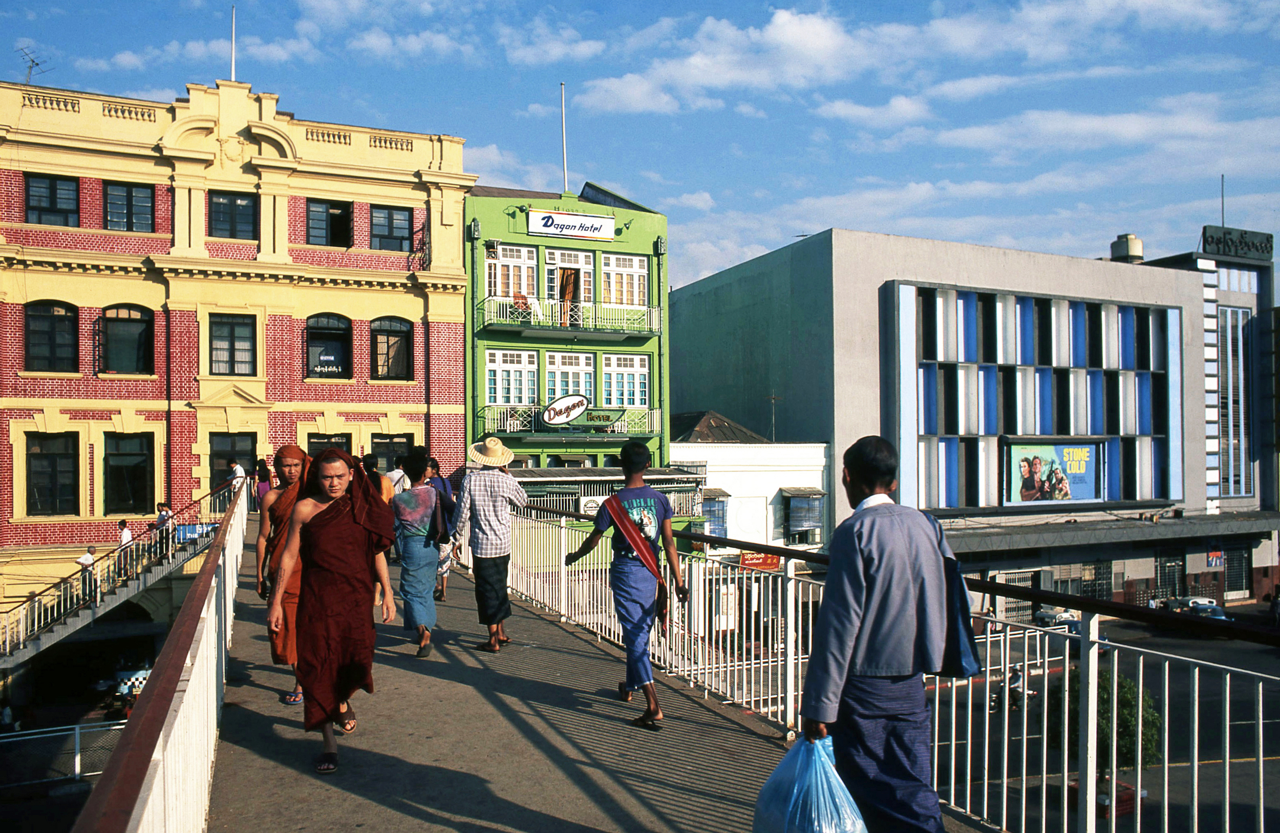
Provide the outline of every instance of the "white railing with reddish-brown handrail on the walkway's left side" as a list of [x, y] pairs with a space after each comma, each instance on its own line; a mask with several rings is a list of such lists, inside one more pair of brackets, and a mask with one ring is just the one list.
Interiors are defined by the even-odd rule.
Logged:
[[[73, 833], [202, 830], [218, 747], [248, 484], [236, 490], [201, 573]], [[188, 605], [197, 605], [188, 608]]]

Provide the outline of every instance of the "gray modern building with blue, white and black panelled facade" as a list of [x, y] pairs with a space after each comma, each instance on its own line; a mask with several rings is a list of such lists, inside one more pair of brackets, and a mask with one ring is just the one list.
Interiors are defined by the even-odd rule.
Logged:
[[1236, 234], [1243, 256], [1206, 229], [1151, 265], [1132, 235], [1087, 260], [831, 229], [671, 293], [672, 404], [836, 459], [892, 439], [897, 499], [942, 520], [970, 572], [1261, 599], [1276, 303], [1270, 235]]

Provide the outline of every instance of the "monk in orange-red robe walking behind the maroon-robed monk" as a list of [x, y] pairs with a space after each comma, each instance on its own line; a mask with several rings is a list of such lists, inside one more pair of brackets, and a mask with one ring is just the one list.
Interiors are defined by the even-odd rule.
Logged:
[[[262, 517], [257, 531], [257, 595], [269, 598], [280, 572], [280, 554], [289, 540], [289, 518], [298, 494], [307, 479], [307, 464], [311, 458], [297, 445], [282, 445], [275, 452], [275, 475], [280, 485], [271, 489], [261, 500]], [[302, 590], [302, 571], [294, 569], [288, 586], [280, 596], [284, 605], [284, 624], [279, 631], [270, 631], [271, 662], [276, 665], [297, 665], [297, 614], [298, 594]], [[282, 697], [288, 705], [302, 705], [302, 685], [294, 679], [293, 691]]]

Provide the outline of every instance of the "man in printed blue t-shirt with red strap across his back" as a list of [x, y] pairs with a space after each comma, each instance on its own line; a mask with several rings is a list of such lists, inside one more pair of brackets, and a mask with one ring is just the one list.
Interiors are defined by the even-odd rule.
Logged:
[[[676, 595], [681, 601], [685, 601], [689, 599], [689, 589], [681, 576], [676, 540], [671, 535], [671, 502], [667, 500], [667, 495], [644, 482], [644, 472], [652, 462], [649, 447], [631, 440], [622, 447], [618, 457], [622, 461], [626, 485], [617, 493], [617, 498], [636, 528], [640, 530], [640, 535], [653, 549], [654, 562], [660, 563], [658, 562], [659, 553], [663, 549], [667, 551], [667, 563], [676, 580]], [[600, 536], [614, 525], [608, 508], [602, 505], [595, 514], [595, 530], [576, 551], [564, 558], [564, 563], [572, 564], [594, 550]], [[658, 705], [658, 690], [653, 685], [653, 667], [649, 664], [649, 632], [653, 630], [653, 618], [657, 612], [658, 577], [636, 557], [621, 530], [616, 530], [613, 534], [613, 564], [609, 567], [609, 587], [613, 590], [618, 623], [622, 626], [622, 644], [627, 651], [627, 678], [626, 682], [618, 683], [618, 697], [623, 702], [630, 702], [632, 691], [644, 691], [644, 714], [632, 720], [631, 724], [658, 731], [662, 728], [658, 723], [662, 720], [662, 706]]]

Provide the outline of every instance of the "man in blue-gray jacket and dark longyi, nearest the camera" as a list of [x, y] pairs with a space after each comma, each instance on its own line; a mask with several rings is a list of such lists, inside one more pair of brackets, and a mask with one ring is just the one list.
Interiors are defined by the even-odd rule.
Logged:
[[942, 665], [942, 559], [954, 555], [937, 521], [890, 498], [897, 490], [892, 443], [864, 436], [844, 462], [854, 514], [831, 540], [800, 702], [805, 738], [831, 733], [836, 769], [869, 833], [941, 833], [922, 674]]

